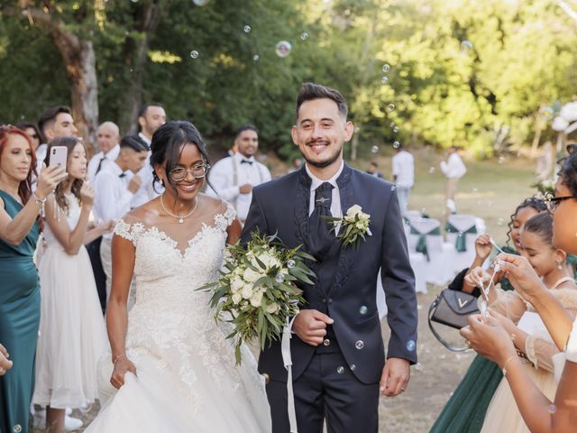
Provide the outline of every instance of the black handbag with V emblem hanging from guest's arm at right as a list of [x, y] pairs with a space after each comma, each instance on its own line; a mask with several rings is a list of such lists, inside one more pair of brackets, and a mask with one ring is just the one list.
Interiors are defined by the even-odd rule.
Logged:
[[476, 297], [463, 291], [444, 289], [429, 307], [429, 327], [439, 343], [447, 349], [452, 352], [464, 352], [469, 350], [469, 347], [456, 347], [444, 341], [444, 338], [435, 331], [433, 322], [461, 329], [469, 324], [467, 318], [472, 314], [479, 314]]

